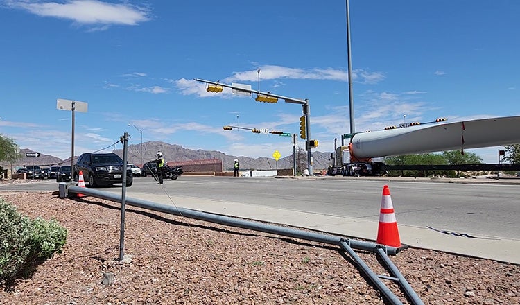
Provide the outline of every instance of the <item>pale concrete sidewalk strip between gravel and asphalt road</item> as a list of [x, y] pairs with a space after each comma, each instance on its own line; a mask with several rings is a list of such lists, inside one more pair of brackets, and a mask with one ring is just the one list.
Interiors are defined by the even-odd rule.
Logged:
[[[235, 216], [266, 223], [304, 227], [334, 235], [375, 241], [379, 223], [360, 218], [312, 214], [272, 207], [259, 207], [239, 202], [206, 200], [187, 196], [131, 193], [128, 197], [161, 204], [175, 205], [225, 216]], [[398, 218], [399, 219], [399, 218]], [[520, 265], [520, 240], [489, 237], [468, 238], [437, 232], [426, 227], [399, 225], [401, 243], [411, 247], [439, 250], [453, 254], [473, 256]]]

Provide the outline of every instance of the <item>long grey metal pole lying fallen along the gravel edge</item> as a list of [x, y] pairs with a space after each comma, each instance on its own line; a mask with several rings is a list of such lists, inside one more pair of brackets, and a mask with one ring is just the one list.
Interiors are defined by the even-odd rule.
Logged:
[[[91, 195], [96, 198], [106, 199], [114, 202], [121, 203], [121, 196], [114, 193], [108, 193], [98, 191], [96, 189], [87, 189], [79, 186], [69, 186], [67, 189], [71, 193], [83, 193], [85, 195]], [[277, 225], [268, 225], [265, 223], [254, 222], [250, 220], [242, 220], [230, 216], [222, 216], [218, 214], [211, 214], [203, 211], [196, 211], [193, 209], [185, 209], [182, 207], [174, 207], [167, 204], [159, 204], [147, 200], [141, 200], [137, 198], [126, 198], [126, 204], [133, 207], [141, 207], [143, 209], [150, 209], [153, 211], [159, 211], [167, 214], [193, 218], [198, 220], [205, 220], [211, 223], [218, 223], [220, 225], [228, 225], [230, 227], [240, 227], [243, 229], [251, 229], [260, 232], [266, 232], [270, 234], [278, 234], [282, 236], [289, 236], [293, 238], [300, 238], [307, 241], [315, 241], [318, 243], [327, 243], [329, 245], [341, 246], [343, 242], [347, 241], [349, 246], [357, 249], [375, 253], [376, 250], [383, 249], [390, 255], [395, 255], [399, 252], [399, 248], [390, 246], [381, 246], [376, 243], [370, 243], [367, 241], [356, 241], [353, 239], [345, 239], [341, 236], [333, 236], [328, 234], [307, 232], [299, 229], [291, 229], [287, 227], [280, 227]]]

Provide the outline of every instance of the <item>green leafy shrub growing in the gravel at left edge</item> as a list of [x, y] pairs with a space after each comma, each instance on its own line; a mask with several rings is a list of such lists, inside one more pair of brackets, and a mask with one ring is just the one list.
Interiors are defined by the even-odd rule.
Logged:
[[55, 220], [31, 220], [0, 198], [0, 286], [10, 291], [19, 279], [32, 277], [66, 240], [67, 229]]

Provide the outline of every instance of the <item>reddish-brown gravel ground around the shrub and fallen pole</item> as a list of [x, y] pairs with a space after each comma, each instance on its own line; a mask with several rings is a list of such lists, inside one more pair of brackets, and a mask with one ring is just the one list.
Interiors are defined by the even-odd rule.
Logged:
[[[339, 247], [56, 193], [1, 192], [67, 228], [64, 252], [0, 304], [385, 304]], [[374, 254], [356, 251], [378, 274]], [[424, 304], [520, 304], [520, 266], [409, 248], [390, 256]], [[103, 285], [103, 274], [114, 284]], [[385, 284], [404, 304], [399, 286]]]

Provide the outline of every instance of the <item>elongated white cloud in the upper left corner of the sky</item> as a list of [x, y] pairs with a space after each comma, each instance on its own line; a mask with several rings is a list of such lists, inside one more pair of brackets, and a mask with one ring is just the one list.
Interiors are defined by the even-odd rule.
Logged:
[[26, 10], [42, 17], [69, 19], [77, 24], [104, 25], [95, 30], [104, 30], [107, 25], [135, 26], [150, 20], [150, 10], [130, 3], [107, 3], [97, 0], [72, 0], [58, 2], [12, 1], [5, 2], [10, 8]]

